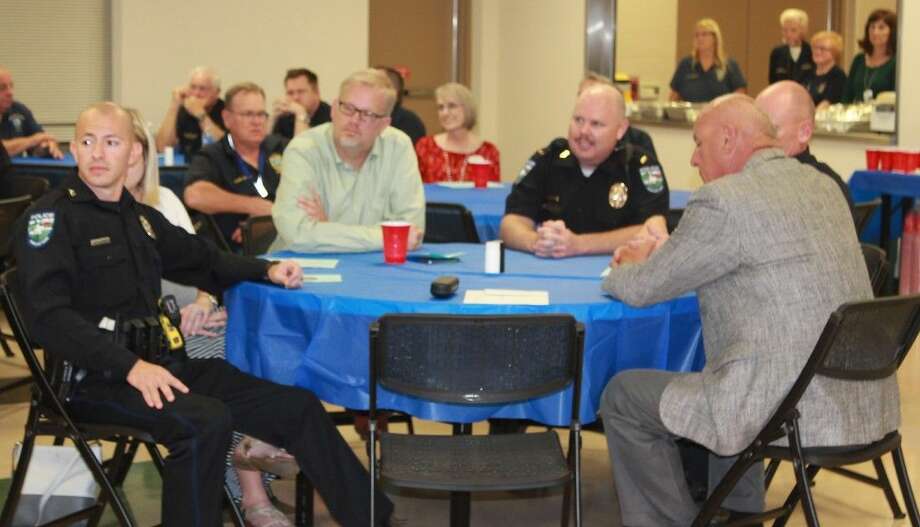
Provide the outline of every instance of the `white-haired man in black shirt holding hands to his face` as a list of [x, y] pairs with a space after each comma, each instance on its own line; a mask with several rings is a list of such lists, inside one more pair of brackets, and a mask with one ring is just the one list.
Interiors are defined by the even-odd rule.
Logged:
[[157, 131], [157, 151], [177, 146], [190, 158], [202, 145], [220, 141], [227, 131], [220, 100], [220, 78], [211, 68], [189, 73], [188, 86], [173, 90], [169, 109]]

